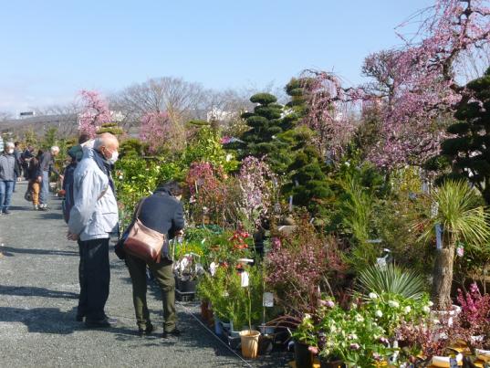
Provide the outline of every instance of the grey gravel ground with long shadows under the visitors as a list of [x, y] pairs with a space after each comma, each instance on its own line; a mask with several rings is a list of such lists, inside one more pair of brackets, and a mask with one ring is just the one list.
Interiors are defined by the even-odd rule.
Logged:
[[66, 239], [60, 200], [38, 212], [17, 185], [12, 215], [0, 216], [0, 366], [1, 367], [242, 367], [279, 366], [270, 359], [245, 363], [194, 319], [194, 303], [179, 304], [179, 339], [163, 340], [162, 304], [149, 292], [158, 326], [141, 339], [131, 301], [130, 279], [122, 261], [110, 255], [110, 295], [106, 312], [117, 328], [87, 330], [75, 321], [78, 301], [78, 246]]

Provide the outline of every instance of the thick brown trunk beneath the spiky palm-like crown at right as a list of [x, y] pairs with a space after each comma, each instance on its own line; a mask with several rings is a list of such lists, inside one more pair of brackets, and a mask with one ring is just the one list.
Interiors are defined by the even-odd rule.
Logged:
[[448, 310], [453, 284], [454, 246], [438, 249], [433, 268], [433, 302], [436, 310]]

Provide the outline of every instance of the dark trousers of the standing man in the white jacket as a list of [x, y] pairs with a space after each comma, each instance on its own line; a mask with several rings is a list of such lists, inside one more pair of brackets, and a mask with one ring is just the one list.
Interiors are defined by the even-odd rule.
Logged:
[[88, 321], [99, 321], [106, 317], [104, 307], [109, 298], [109, 238], [78, 240], [80, 264], [78, 280], [78, 316]]

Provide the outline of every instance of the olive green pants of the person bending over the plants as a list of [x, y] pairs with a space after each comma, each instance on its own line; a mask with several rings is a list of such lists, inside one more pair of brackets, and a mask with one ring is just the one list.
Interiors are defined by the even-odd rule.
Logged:
[[[146, 262], [140, 258], [126, 255], [126, 264], [130, 269], [132, 281], [132, 301], [136, 313], [136, 321], [140, 329], [145, 329], [150, 324], [150, 312], [146, 303]], [[175, 279], [172, 272], [172, 261], [162, 258], [160, 263], [148, 264], [151, 273], [155, 277], [162, 290], [163, 302], [163, 330], [172, 332], [175, 330], [177, 314], [175, 312]]]

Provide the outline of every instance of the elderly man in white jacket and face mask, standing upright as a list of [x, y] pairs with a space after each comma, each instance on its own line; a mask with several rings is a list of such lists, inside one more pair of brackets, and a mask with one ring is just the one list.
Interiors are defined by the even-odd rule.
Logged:
[[80, 251], [77, 321], [89, 328], [111, 327], [117, 321], [104, 311], [109, 297], [109, 237], [118, 228], [118, 205], [110, 166], [118, 159], [119, 142], [104, 133], [93, 149], [84, 148], [74, 173], [74, 205], [68, 221], [68, 239], [78, 240]]

